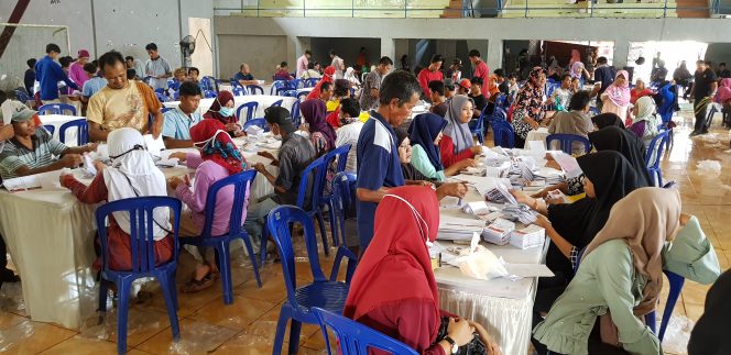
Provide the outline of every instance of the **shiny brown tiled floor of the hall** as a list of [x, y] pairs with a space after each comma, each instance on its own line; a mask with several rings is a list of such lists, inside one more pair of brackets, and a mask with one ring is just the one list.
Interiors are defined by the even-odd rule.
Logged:
[[[665, 180], [676, 180], [683, 192], [683, 210], [698, 217], [711, 240], [722, 269], [731, 265], [731, 151], [729, 132], [714, 126], [713, 136], [689, 140], [689, 114], [675, 130], [675, 144], [663, 162]], [[717, 122], [720, 121], [717, 115]], [[723, 174], [709, 174], [696, 165], [703, 159], [719, 160]], [[727, 220], [729, 219], [729, 220]], [[301, 245], [298, 245], [302, 248]], [[304, 255], [299, 251], [298, 255]], [[171, 341], [170, 323], [165, 306], [156, 284], [145, 289], [152, 291], [151, 300], [134, 304], [130, 310], [128, 348], [130, 354], [271, 354], [276, 319], [286, 297], [280, 264], [268, 263], [262, 270], [263, 287], [257, 287], [250, 264], [237, 252], [233, 256], [233, 304], [223, 306], [220, 282], [195, 295], [179, 295], [182, 340]], [[332, 256], [321, 256], [325, 270], [330, 269]], [[194, 266], [189, 255], [183, 255], [178, 269], [178, 284], [190, 275]], [[297, 275], [306, 281], [310, 278], [308, 266], [298, 259]], [[89, 320], [80, 332], [54, 324], [32, 322], [9, 295], [18, 293], [17, 286], [6, 285], [0, 291], [0, 351], [12, 354], [111, 354], [116, 352], [116, 323], [110, 312], [106, 323], [97, 325], [97, 318]], [[695, 321], [702, 314], [708, 286], [687, 281], [675, 314]], [[14, 291], [14, 292], [13, 292]], [[664, 299], [663, 297], [662, 299]], [[662, 309], [662, 307], [661, 307]], [[285, 339], [288, 339], [285, 337]], [[325, 354], [325, 343], [318, 329], [304, 326], [301, 334], [301, 354]], [[286, 350], [286, 343], [285, 347]]]

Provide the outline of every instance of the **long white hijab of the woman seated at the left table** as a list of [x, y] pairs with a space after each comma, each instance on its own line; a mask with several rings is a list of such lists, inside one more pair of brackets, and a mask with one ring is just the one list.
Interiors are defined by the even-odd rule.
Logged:
[[[107, 146], [112, 164], [103, 170], [103, 177], [110, 202], [133, 197], [167, 196], [165, 176], [152, 160], [140, 131], [130, 127], [114, 130], [107, 137]], [[113, 214], [119, 228], [131, 235], [130, 214]], [[154, 240], [160, 241], [173, 230], [170, 210], [155, 209], [153, 218], [152, 232]]]

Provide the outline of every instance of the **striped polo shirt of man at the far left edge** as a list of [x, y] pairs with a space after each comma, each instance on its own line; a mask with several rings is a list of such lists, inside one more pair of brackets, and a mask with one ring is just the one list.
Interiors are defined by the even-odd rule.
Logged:
[[3, 180], [18, 177], [15, 170], [21, 166], [35, 169], [50, 165], [55, 160], [54, 156], [57, 157], [66, 151], [66, 145], [54, 140], [43, 129], [35, 130], [31, 140], [33, 149], [26, 148], [15, 138], [6, 142], [0, 153], [0, 176]]

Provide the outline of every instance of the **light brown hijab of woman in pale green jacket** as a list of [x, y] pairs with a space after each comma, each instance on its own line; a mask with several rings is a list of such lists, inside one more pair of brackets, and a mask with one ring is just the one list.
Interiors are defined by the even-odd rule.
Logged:
[[643, 300], [635, 315], [652, 312], [663, 288], [662, 251], [680, 229], [680, 192], [677, 189], [640, 188], [612, 208], [604, 228], [587, 246], [583, 257], [604, 242], [625, 240], [632, 249], [634, 267], [647, 277]]

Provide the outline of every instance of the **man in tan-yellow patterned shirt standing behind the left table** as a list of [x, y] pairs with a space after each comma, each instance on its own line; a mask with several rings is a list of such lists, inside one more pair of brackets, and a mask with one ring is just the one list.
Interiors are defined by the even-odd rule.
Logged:
[[[107, 141], [109, 132], [132, 127], [141, 133], [148, 130], [157, 138], [162, 133], [162, 104], [155, 92], [142, 81], [128, 80], [127, 65], [119, 52], [110, 51], [99, 57], [107, 86], [89, 99], [86, 121], [89, 125], [89, 141]], [[149, 114], [152, 124], [149, 124]]]

